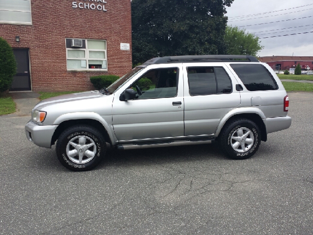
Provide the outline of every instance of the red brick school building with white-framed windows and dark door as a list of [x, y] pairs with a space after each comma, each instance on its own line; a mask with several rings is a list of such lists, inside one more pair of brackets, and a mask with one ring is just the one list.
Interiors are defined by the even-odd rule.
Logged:
[[132, 69], [130, 0], [0, 0], [0, 37], [18, 62], [11, 91], [85, 91]]

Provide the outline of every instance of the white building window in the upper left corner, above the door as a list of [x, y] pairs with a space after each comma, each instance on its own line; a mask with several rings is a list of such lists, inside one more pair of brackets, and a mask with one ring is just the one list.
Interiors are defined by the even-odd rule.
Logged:
[[0, 0], [0, 23], [32, 24], [30, 0]]

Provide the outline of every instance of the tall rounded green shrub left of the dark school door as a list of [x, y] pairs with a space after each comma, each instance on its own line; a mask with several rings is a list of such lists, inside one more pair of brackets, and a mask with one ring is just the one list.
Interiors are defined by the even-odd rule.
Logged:
[[11, 87], [13, 76], [16, 74], [16, 60], [10, 45], [0, 38], [0, 92]]

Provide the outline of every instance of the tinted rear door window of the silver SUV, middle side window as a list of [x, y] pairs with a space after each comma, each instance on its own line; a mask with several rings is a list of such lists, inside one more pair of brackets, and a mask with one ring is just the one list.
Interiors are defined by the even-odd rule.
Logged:
[[189, 94], [231, 93], [231, 82], [222, 67], [188, 67]]

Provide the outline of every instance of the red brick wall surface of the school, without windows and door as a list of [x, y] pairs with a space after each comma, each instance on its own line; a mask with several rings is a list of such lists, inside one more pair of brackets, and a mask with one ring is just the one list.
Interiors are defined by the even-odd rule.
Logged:
[[[72, 1], [31, 0], [32, 25], [0, 24], [11, 47], [29, 48], [33, 91], [86, 91], [94, 89], [90, 76], [132, 69], [132, 47], [120, 50], [120, 43], [132, 43], [131, 1], [106, 0], [106, 12], [72, 8]], [[108, 72], [67, 71], [66, 38], [107, 40]]]

